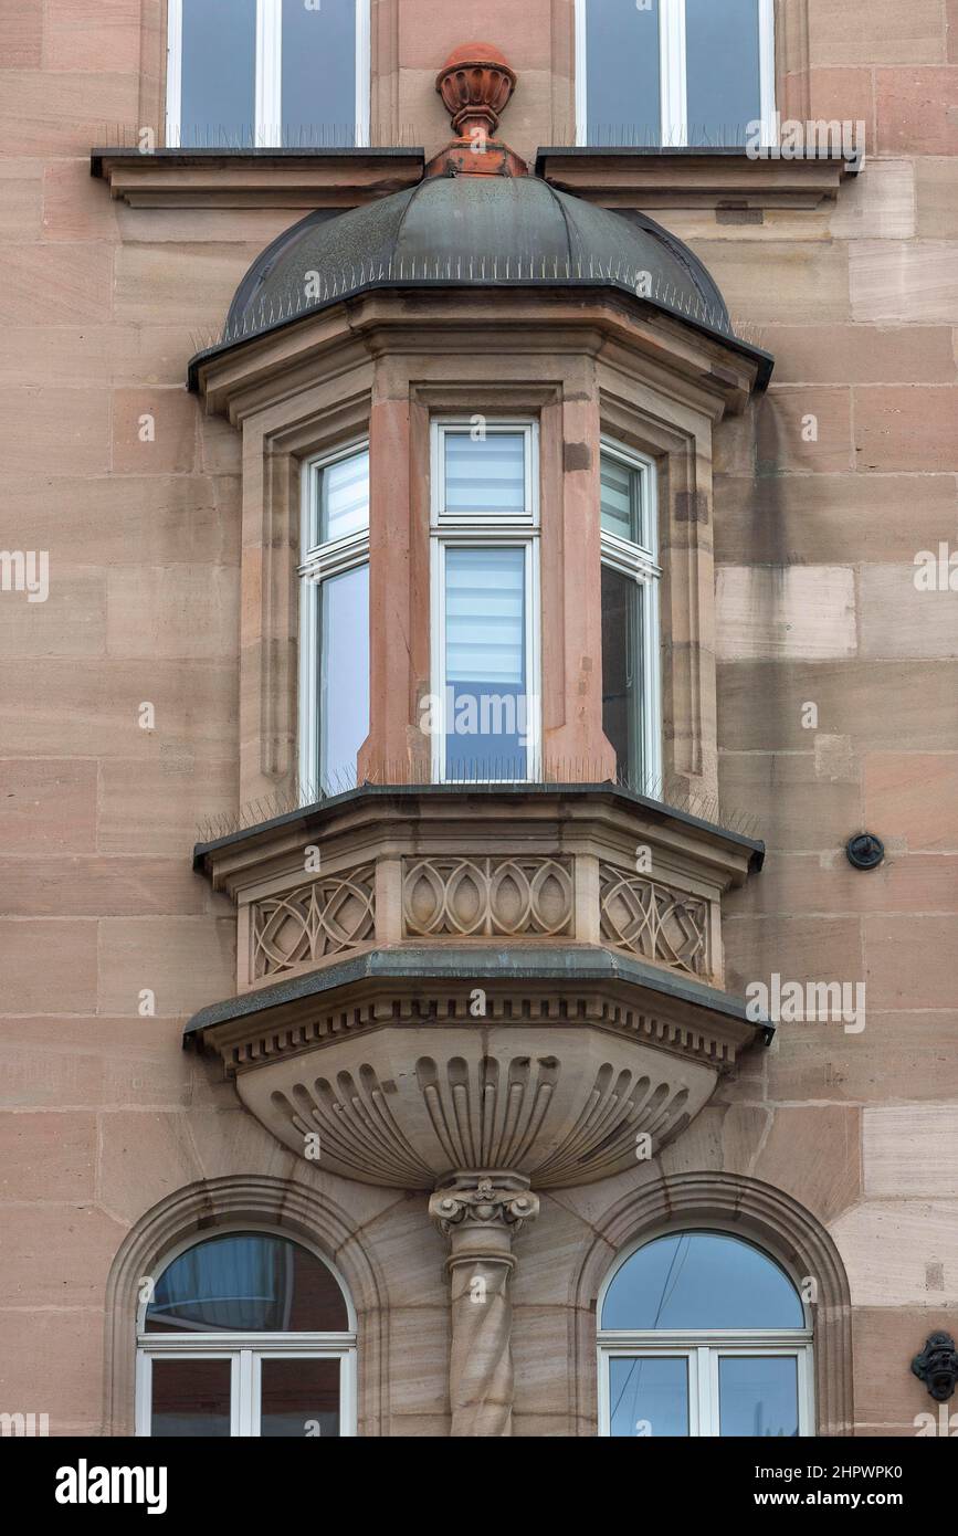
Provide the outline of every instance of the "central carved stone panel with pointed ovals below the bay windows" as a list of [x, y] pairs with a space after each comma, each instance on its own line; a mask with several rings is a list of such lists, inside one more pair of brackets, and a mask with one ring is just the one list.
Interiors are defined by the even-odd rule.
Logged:
[[402, 869], [407, 937], [557, 938], [573, 928], [568, 859], [407, 859]]

